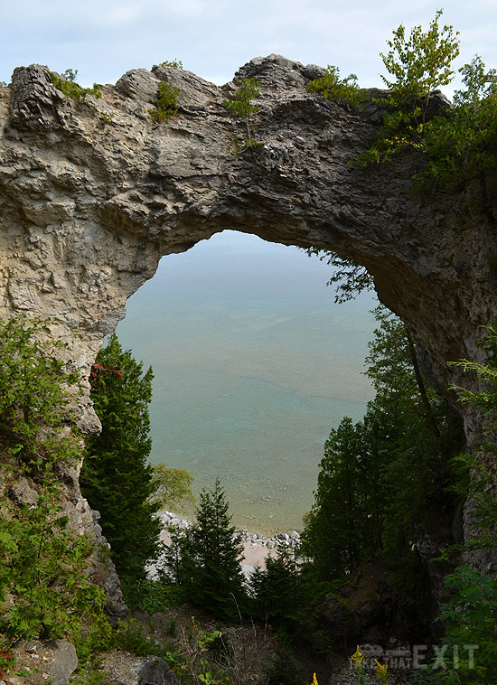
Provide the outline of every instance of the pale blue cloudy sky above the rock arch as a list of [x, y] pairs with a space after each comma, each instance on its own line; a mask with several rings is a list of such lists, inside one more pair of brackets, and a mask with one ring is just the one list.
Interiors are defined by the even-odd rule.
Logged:
[[[271, 52], [355, 72], [381, 86], [380, 52], [400, 23], [428, 28], [442, 4], [417, 0], [4, 0], [0, 80], [33, 62], [79, 71], [81, 85], [115, 83], [165, 60], [222, 84]], [[402, 6], [403, 5], [403, 6]], [[456, 66], [475, 53], [497, 67], [496, 0], [447, 0], [440, 23], [460, 32]]]

